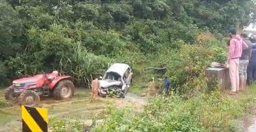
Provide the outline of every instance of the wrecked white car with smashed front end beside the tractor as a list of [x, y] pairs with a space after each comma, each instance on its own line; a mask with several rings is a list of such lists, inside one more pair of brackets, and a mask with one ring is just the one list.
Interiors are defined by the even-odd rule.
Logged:
[[115, 63], [111, 65], [100, 80], [100, 95], [115, 94], [124, 98], [128, 88], [131, 87], [132, 74], [132, 70], [127, 64]]

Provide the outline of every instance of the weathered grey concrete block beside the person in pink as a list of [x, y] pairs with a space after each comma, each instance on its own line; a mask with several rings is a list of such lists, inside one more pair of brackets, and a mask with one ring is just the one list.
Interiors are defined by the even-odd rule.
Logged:
[[206, 76], [208, 78], [207, 87], [209, 90], [212, 90], [215, 82], [219, 83], [221, 90], [228, 89], [231, 86], [228, 68], [208, 68], [206, 69]]

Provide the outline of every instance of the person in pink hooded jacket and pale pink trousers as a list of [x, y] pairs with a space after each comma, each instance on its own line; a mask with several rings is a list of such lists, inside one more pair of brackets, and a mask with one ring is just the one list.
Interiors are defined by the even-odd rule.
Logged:
[[231, 92], [232, 94], [239, 91], [239, 58], [242, 55], [243, 49], [247, 49], [247, 44], [243, 41], [243, 39], [236, 35], [236, 30], [229, 30], [232, 34], [232, 39], [230, 40], [229, 45], [229, 76], [231, 81]]

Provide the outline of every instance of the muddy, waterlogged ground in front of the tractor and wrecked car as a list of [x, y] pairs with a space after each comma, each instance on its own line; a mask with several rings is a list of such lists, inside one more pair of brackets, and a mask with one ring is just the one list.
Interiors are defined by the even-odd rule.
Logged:
[[[0, 101], [4, 100], [4, 90], [0, 89]], [[117, 107], [130, 107], [135, 111], [142, 111], [146, 99], [138, 95], [128, 93], [124, 99], [109, 99], [99, 97], [90, 102], [89, 89], [76, 89], [75, 97], [69, 100], [56, 101], [53, 98], [41, 98], [38, 107], [47, 108], [48, 116], [60, 119], [76, 120], [83, 117], [85, 123], [90, 125], [92, 116], [100, 113], [106, 103], [115, 102]], [[51, 122], [49, 122], [49, 131]], [[20, 106], [0, 106], [0, 132], [19, 132], [22, 129]]]

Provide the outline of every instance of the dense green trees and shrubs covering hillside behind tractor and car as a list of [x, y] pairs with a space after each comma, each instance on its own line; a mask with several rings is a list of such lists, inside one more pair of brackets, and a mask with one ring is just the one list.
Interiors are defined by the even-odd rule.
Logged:
[[[182, 85], [187, 80], [185, 76], [193, 72], [197, 76], [201, 71], [174, 72], [173, 67], [182, 65], [199, 70], [204, 57], [211, 58], [205, 59], [207, 65], [212, 59], [220, 62], [225, 59], [225, 47], [216, 44], [222, 42], [221, 37], [218, 37], [219, 40], [213, 38], [208, 42], [207, 38], [207, 42], [201, 42], [198, 35], [202, 35], [202, 31], [226, 33], [230, 26], [255, 23], [256, 12], [253, 8], [255, 3], [251, 0], [1, 0], [0, 6], [0, 29], [3, 32], [0, 36], [0, 71], [4, 73], [1, 79], [12, 80], [45, 70], [63, 69], [64, 73], [74, 76], [74, 81], [81, 86], [88, 85], [89, 80], [102, 74], [107, 63], [124, 62], [132, 65], [133, 69], [140, 69], [139, 62], [142, 64], [148, 59], [154, 61], [156, 58], [151, 56], [156, 54], [163, 57], [160, 59], [174, 58], [169, 58], [172, 65], [169, 63], [166, 75]], [[201, 43], [212, 46], [205, 48]], [[74, 49], [78, 46], [86, 49], [82, 54], [85, 58], [91, 58], [90, 61], [87, 59], [78, 63], [78, 58], [74, 57]], [[205, 54], [196, 54], [197, 51]], [[176, 52], [189, 54], [183, 58], [174, 55]], [[191, 59], [188, 56], [198, 57]], [[99, 62], [99, 58], [105, 58], [108, 62]], [[191, 61], [185, 63], [185, 58]], [[87, 66], [82, 66], [89, 64], [101, 66], [97, 72], [90, 70], [91, 73], [83, 69]], [[78, 69], [83, 70], [83, 74], [74, 67], [80, 67]], [[82, 80], [86, 80], [85, 83], [81, 83]]]

